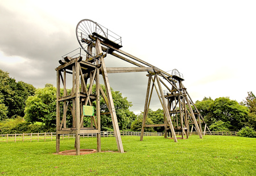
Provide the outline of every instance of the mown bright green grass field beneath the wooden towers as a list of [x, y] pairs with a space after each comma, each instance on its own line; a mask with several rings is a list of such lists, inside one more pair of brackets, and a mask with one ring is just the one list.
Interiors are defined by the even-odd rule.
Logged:
[[[256, 175], [256, 139], [235, 136], [122, 137], [126, 153], [61, 156], [55, 141], [0, 143], [1, 175]], [[60, 151], [74, 149], [60, 141]], [[102, 150], [117, 150], [115, 138], [101, 138]], [[96, 138], [81, 138], [81, 148], [96, 149]]]

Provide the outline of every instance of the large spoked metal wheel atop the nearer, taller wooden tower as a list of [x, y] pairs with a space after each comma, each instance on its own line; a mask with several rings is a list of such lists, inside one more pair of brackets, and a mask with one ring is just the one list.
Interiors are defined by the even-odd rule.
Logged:
[[95, 41], [91, 40], [89, 35], [95, 32], [98, 35], [107, 37], [103, 29], [93, 20], [84, 19], [81, 20], [76, 26], [76, 37], [79, 41], [79, 44], [84, 51], [91, 57], [95, 57], [96, 51], [93, 47]]

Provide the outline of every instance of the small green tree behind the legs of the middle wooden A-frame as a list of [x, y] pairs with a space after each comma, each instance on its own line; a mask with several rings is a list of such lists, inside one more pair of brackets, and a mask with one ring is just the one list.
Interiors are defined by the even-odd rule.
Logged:
[[[143, 121], [143, 113], [139, 114], [137, 119], [131, 123], [131, 130], [133, 131], [141, 131], [142, 127], [142, 121]], [[154, 124], [154, 122], [147, 117], [146, 124]], [[146, 127], [144, 128], [144, 132], [155, 132], [153, 127]]]

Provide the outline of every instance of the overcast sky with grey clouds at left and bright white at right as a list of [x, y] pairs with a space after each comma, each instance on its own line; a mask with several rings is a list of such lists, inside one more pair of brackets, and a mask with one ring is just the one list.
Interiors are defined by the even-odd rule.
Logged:
[[[122, 37], [122, 50], [161, 70], [176, 68], [193, 101], [256, 93], [256, 1], [0, 1], [0, 69], [56, 86], [61, 56], [79, 48], [76, 25], [91, 19]], [[108, 67], [129, 67], [105, 58]], [[142, 111], [146, 72], [109, 75]], [[104, 84], [103, 82], [101, 84]], [[151, 109], [161, 108], [157, 99]]]

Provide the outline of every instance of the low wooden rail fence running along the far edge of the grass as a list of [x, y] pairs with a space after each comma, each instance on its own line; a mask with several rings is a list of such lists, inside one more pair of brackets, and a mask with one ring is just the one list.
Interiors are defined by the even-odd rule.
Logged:
[[[212, 135], [221, 136], [237, 136], [237, 131], [211, 131]], [[141, 132], [137, 131], [121, 131], [121, 136], [140, 136]], [[176, 135], [181, 135], [181, 132], [176, 132]], [[197, 135], [196, 132], [192, 132], [190, 135]], [[206, 132], [205, 135], [210, 135], [210, 132]], [[164, 132], [144, 132], [144, 136], [164, 136]], [[93, 138], [96, 134], [81, 134], [80, 138]], [[114, 137], [114, 131], [101, 131], [101, 137]], [[75, 134], [61, 135], [62, 140], [73, 138]], [[56, 140], [56, 132], [43, 132], [43, 133], [29, 133], [29, 134], [5, 134], [0, 135], [0, 143], [8, 143], [10, 141], [53, 141]]]

